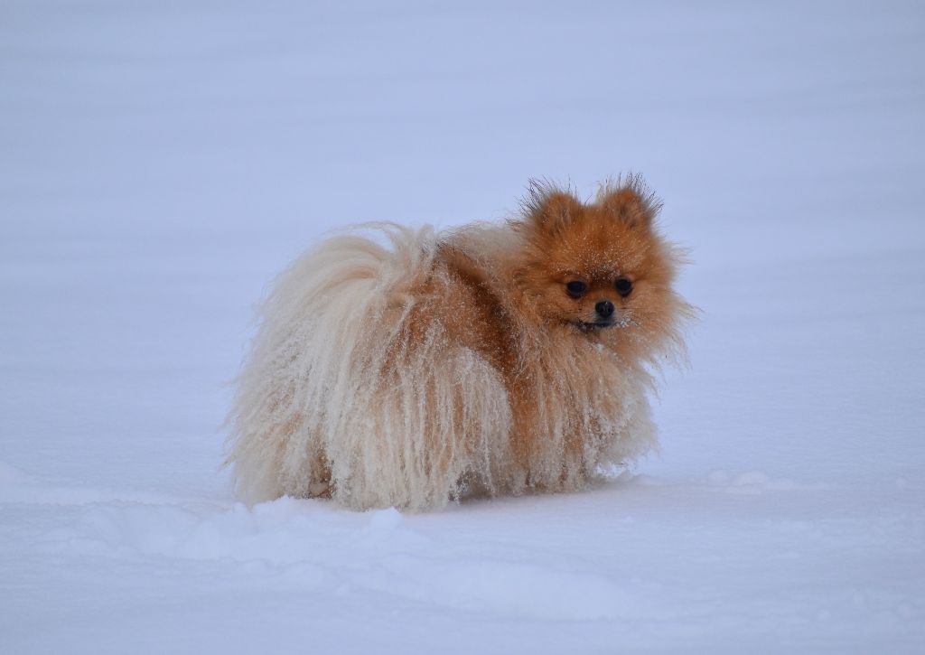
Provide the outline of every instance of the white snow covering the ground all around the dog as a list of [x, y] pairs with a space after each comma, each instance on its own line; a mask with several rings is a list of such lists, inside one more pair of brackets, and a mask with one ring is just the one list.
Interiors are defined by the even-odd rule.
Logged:
[[[0, 4], [0, 652], [922, 652], [925, 11]], [[220, 428], [325, 229], [633, 168], [703, 311], [587, 493], [248, 511]]]

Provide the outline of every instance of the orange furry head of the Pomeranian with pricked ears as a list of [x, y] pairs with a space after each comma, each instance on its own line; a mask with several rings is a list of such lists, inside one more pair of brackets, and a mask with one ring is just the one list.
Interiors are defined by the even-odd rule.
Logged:
[[679, 260], [655, 229], [659, 209], [638, 176], [605, 185], [588, 204], [532, 184], [512, 221], [524, 238], [514, 281], [525, 302], [541, 320], [611, 345], [650, 349], [673, 338], [686, 305], [672, 291]]

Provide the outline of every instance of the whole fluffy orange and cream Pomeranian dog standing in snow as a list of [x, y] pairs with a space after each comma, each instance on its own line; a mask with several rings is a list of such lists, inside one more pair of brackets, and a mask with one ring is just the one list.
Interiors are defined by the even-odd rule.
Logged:
[[532, 183], [519, 216], [372, 224], [276, 280], [229, 414], [240, 496], [436, 509], [583, 488], [656, 447], [648, 391], [684, 345], [678, 251], [638, 176], [589, 204]]

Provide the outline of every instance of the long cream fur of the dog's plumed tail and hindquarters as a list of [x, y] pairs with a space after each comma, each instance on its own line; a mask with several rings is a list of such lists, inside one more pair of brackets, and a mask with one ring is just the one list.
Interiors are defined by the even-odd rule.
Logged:
[[[496, 371], [407, 324], [433, 276], [430, 228], [361, 226], [302, 254], [275, 281], [238, 380], [228, 463], [240, 496], [329, 495], [347, 506], [445, 504], [506, 443]], [[426, 389], [422, 392], [422, 389]], [[466, 439], [466, 427], [480, 435]], [[499, 460], [497, 454], [493, 458]], [[490, 481], [487, 482], [490, 485]]]

